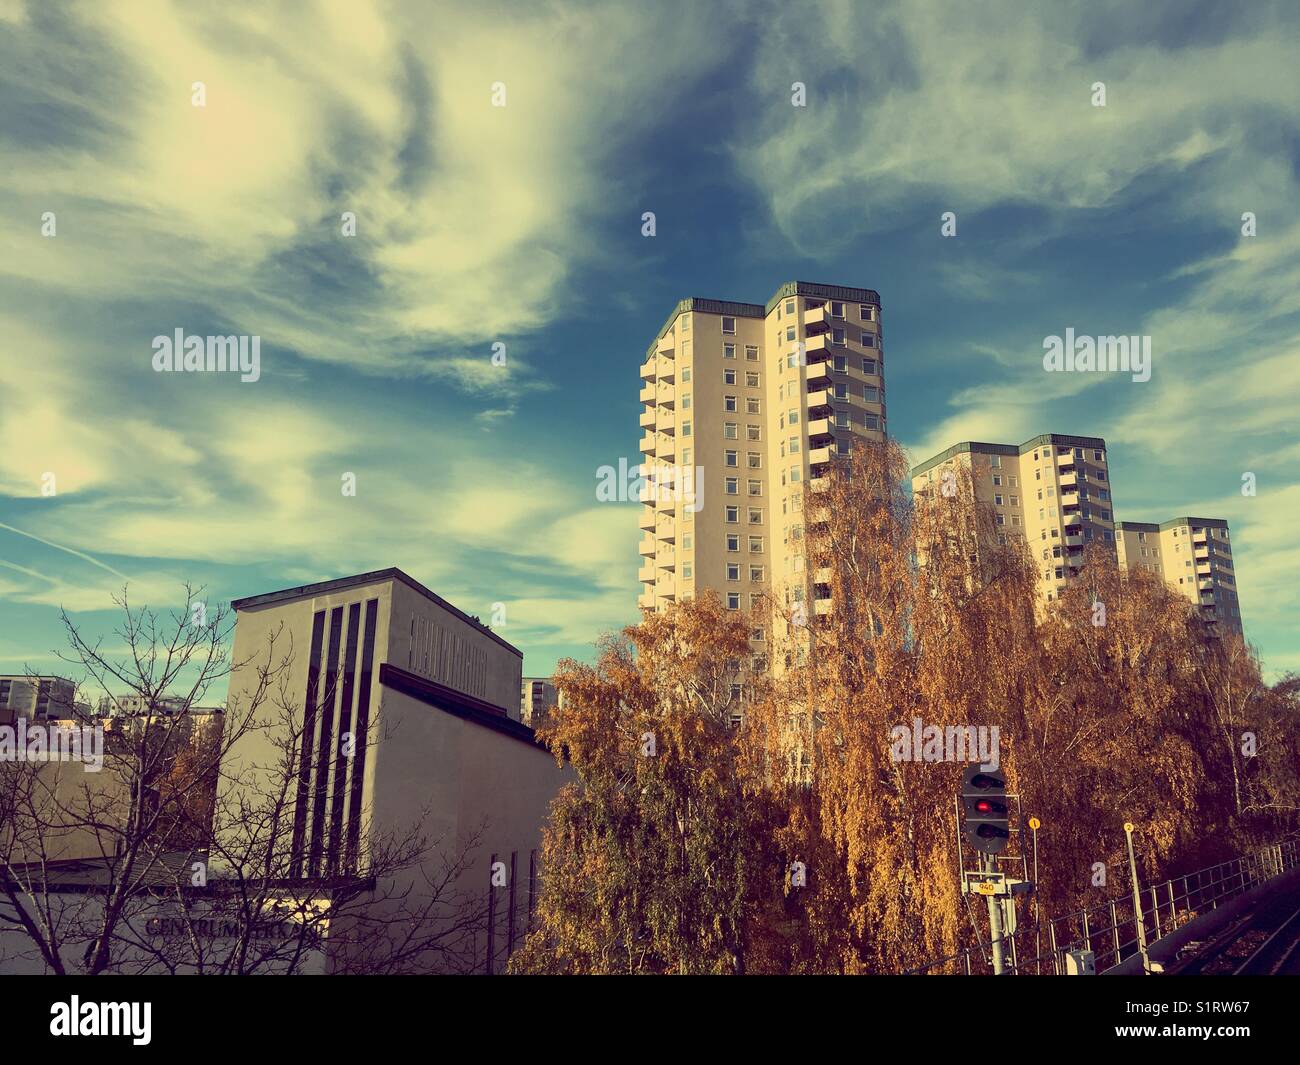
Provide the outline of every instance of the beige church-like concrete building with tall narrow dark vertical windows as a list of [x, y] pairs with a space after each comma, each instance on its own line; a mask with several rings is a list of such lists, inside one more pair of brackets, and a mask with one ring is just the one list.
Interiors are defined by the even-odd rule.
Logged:
[[[277, 648], [291, 637], [299, 651], [287, 680], [302, 737], [289, 874], [364, 873], [376, 847], [415, 824], [443, 854], [465, 854], [455, 880], [482, 910], [478, 967], [500, 971], [526, 930], [541, 828], [569, 776], [515, 718], [521, 653], [395, 568], [233, 607], [235, 662], [265, 659], [274, 633]], [[234, 672], [228, 717], [257, 680], [252, 664]], [[273, 765], [273, 739], [235, 744], [230, 775]]]

